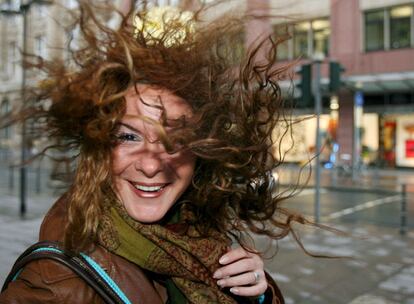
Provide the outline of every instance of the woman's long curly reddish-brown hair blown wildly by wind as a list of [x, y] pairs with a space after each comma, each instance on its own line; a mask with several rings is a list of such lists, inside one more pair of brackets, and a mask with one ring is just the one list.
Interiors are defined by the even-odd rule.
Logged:
[[[78, 152], [68, 192], [68, 248], [83, 250], [96, 240], [103, 202], [114, 198], [113, 137], [126, 91], [137, 83], [166, 88], [192, 107], [194, 115], [178, 121], [179, 128], [162, 141], [170, 153], [179, 143], [197, 156], [192, 184], [179, 203], [191, 209], [200, 231], [282, 238], [292, 222], [305, 222], [280, 206], [288, 194], [272, 195], [271, 189], [269, 172], [281, 162], [273, 153], [280, 144], [273, 134], [287, 119], [277, 82], [289, 67], [275, 65], [278, 41], [256, 41], [235, 58], [232, 44], [246, 20], [255, 17], [226, 15], [206, 22], [204, 10], [184, 26], [165, 18], [164, 34], [151, 35], [134, 28], [132, 11], [111, 29], [80, 2], [76, 25], [82, 40], [71, 65], [41, 63], [47, 80], [36, 93], [38, 115], [50, 138]], [[145, 24], [145, 11], [139, 16]], [[51, 105], [39, 107], [46, 100]]]

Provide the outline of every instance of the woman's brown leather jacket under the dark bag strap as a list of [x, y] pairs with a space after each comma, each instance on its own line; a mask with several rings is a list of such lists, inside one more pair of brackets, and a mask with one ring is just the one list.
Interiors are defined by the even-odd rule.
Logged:
[[[40, 228], [40, 240], [60, 241], [65, 227], [66, 202], [61, 199], [49, 210]], [[101, 246], [90, 256], [117, 282], [132, 303], [165, 303], [165, 289], [149, 280], [135, 264], [110, 253]], [[273, 282], [272, 282], [273, 283]], [[280, 292], [272, 284], [271, 296], [265, 303], [274, 302]], [[278, 296], [276, 296], [278, 295]], [[273, 298], [273, 299], [270, 299]], [[283, 300], [281, 300], [283, 303]], [[51, 260], [39, 260], [27, 265], [18, 279], [0, 294], [0, 304], [11, 303], [103, 303], [102, 299], [71, 270]]]

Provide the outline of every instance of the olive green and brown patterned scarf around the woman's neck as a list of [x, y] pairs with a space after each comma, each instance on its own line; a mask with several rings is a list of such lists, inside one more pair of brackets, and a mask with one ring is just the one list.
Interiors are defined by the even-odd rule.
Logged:
[[[181, 219], [191, 216], [180, 212]], [[99, 242], [141, 268], [167, 277], [169, 303], [237, 303], [213, 279], [220, 267], [218, 260], [229, 245], [223, 234], [202, 237], [185, 224], [142, 224], [112, 204], [102, 221]]]

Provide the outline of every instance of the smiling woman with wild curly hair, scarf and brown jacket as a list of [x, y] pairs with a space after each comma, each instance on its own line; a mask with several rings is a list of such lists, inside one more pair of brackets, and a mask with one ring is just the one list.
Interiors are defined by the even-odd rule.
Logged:
[[[236, 72], [229, 43], [240, 18], [200, 27], [202, 10], [156, 21], [142, 11], [112, 30], [93, 11], [81, 3], [76, 68], [40, 63], [49, 78], [31, 118], [78, 153], [40, 239], [87, 252], [133, 303], [283, 303], [242, 241], [246, 231], [283, 237], [300, 219], [280, 208], [268, 175], [282, 111], [276, 45], [247, 52]], [[269, 61], [255, 64], [264, 45]], [[48, 260], [0, 295], [28, 302], [101, 303]]]

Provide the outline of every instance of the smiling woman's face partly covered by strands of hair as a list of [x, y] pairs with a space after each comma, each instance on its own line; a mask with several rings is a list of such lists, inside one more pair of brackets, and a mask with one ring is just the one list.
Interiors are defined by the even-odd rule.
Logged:
[[[126, 112], [117, 131], [112, 170], [115, 190], [128, 214], [142, 223], [161, 220], [191, 183], [195, 156], [190, 151], [168, 154], [157, 126], [139, 119], [160, 121], [191, 116], [190, 106], [167, 90], [137, 85], [126, 95]], [[168, 134], [168, 127], [165, 128]]]

